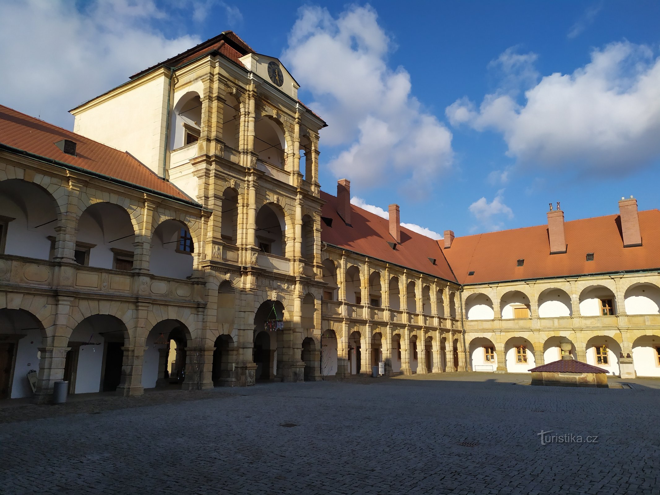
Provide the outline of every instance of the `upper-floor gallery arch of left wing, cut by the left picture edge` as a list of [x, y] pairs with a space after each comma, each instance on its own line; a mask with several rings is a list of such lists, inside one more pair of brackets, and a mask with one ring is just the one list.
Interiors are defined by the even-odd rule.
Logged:
[[57, 211], [46, 189], [20, 179], [0, 182], [0, 254], [52, 259]]

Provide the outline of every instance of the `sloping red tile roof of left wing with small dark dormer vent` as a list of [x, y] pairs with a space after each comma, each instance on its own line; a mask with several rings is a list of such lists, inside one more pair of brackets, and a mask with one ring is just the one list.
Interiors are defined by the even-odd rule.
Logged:
[[[76, 156], [55, 146], [54, 143], [62, 139], [76, 143]], [[0, 143], [194, 203], [178, 187], [156, 176], [127, 152], [102, 145], [3, 105], [0, 105]]]

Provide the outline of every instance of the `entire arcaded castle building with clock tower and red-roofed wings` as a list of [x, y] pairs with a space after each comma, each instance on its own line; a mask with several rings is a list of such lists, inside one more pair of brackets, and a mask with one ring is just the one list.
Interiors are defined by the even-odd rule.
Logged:
[[320, 191], [297, 92], [224, 32], [73, 109], [75, 133], [0, 106], [0, 396], [527, 372], [560, 339], [660, 376], [657, 211], [438, 242]]

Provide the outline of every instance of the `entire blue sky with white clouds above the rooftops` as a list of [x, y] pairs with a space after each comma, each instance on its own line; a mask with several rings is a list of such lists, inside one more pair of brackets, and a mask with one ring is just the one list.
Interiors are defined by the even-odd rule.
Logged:
[[71, 128], [69, 108], [232, 29], [331, 124], [326, 191], [348, 176], [364, 203], [457, 235], [542, 224], [550, 201], [568, 220], [624, 195], [660, 207], [660, 3], [402, 5], [2, 3], [0, 102]]

